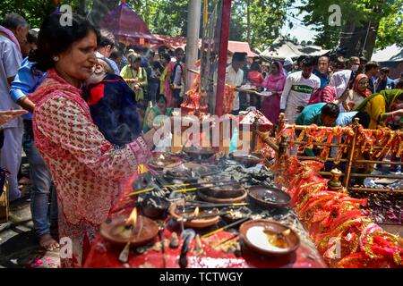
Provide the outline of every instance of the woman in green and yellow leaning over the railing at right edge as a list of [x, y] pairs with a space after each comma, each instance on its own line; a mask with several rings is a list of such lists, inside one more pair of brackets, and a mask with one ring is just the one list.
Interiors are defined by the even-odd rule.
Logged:
[[371, 116], [369, 129], [377, 129], [378, 125], [386, 126], [386, 122], [392, 119], [403, 118], [403, 89], [386, 89], [375, 93], [365, 98], [356, 111], [365, 111]]

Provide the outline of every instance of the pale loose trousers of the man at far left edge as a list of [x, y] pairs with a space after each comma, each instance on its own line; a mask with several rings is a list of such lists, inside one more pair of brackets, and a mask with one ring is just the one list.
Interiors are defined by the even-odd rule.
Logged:
[[[17, 118], [16, 122], [21, 123], [21, 118]], [[18, 189], [17, 175], [21, 164], [22, 135], [23, 129], [21, 125], [20, 127], [4, 129], [4, 146], [0, 152], [0, 165], [10, 172], [8, 179], [10, 201], [21, 196], [21, 191]]]

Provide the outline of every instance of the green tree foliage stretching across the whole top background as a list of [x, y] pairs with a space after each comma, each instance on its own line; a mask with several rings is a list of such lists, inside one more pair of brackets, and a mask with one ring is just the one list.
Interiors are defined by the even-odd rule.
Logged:
[[[119, 4], [119, 0], [3, 0], [0, 18], [6, 13], [20, 13], [31, 27], [39, 27], [46, 15], [55, 11], [55, 2], [70, 4], [74, 11], [84, 7], [85, 11], [81, 13], [95, 20]], [[151, 32], [171, 36], [185, 36], [188, 2], [126, 0], [126, 4], [149, 25]], [[249, 41], [251, 46], [259, 49], [269, 46], [279, 37], [281, 28], [287, 22], [289, 7], [296, 3], [301, 3], [301, 13], [307, 13], [304, 24], [313, 25], [312, 29], [319, 32], [314, 38], [316, 45], [334, 48], [340, 41], [358, 34], [362, 36], [368, 27], [373, 27], [376, 29], [376, 47], [395, 43], [403, 46], [403, 0], [334, 0], [331, 4], [338, 4], [341, 9], [340, 26], [330, 26], [330, 3], [323, 0], [233, 0], [229, 38]], [[210, 13], [214, 1], [210, 0], [209, 4]], [[94, 10], [99, 10], [99, 13], [94, 13]], [[346, 31], [347, 25], [352, 22], [356, 25], [355, 30]]]

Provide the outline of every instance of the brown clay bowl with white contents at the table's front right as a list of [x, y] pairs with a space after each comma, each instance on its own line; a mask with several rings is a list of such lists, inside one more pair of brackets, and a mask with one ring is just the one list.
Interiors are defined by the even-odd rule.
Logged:
[[243, 223], [239, 232], [247, 248], [265, 256], [288, 256], [295, 252], [300, 244], [296, 231], [270, 220]]

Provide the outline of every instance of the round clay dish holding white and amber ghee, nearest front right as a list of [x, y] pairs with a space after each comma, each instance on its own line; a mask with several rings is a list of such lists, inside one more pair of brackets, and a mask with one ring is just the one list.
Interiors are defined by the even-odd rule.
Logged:
[[[253, 230], [252, 230], [253, 228]], [[249, 232], [252, 230], [251, 232]], [[263, 233], [261, 233], [261, 230]], [[284, 240], [287, 242], [287, 247], [277, 248], [271, 246], [266, 248], [262, 246], [262, 240], [265, 239], [264, 231], [269, 231], [271, 233], [287, 233], [284, 235]], [[287, 232], [285, 232], [287, 231]], [[270, 220], [254, 220], [241, 224], [239, 228], [241, 239], [247, 248], [262, 254], [264, 256], [271, 257], [286, 257], [291, 255], [299, 248], [300, 240], [296, 231], [293, 231], [283, 223], [278, 223]], [[261, 233], [261, 234], [257, 234]], [[270, 243], [267, 242], [270, 246]]]

